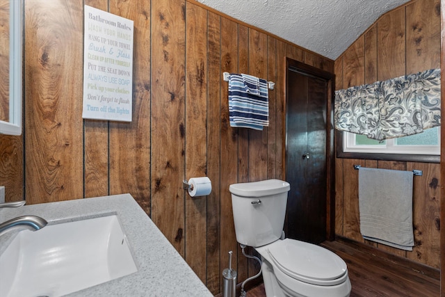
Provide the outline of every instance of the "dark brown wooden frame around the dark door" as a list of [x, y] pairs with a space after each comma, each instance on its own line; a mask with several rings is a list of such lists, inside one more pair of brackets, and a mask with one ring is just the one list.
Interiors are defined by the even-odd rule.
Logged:
[[284, 179], [286, 179], [286, 152], [287, 152], [287, 72], [291, 67], [294, 71], [301, 74], [324, 79], [327, 82], [327, 98], [326, 98], [326, 238], [333, 241], [335, 239], [335, 154], [334, 154], [334, 88], [335, 74], [321, 70], [317, 67], [307, 65], [295, 61], [291, 58], [284, 57], [284, 117], [283, 117], [283, 169]]

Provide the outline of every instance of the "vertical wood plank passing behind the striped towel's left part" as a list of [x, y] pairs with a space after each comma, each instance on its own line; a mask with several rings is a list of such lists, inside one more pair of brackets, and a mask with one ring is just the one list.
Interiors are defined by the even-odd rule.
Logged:
[[[238, 71], [238, 24], [221, 17], [221, 72]], [[236, 251], [232, 196], [229, 185], [238, 182], [238, 130], [230, 127], [227, 82], [221, 80], [221, 268], [229, 262], [229, 250]], [[234, 261], [234, 259], [232, 259]]]

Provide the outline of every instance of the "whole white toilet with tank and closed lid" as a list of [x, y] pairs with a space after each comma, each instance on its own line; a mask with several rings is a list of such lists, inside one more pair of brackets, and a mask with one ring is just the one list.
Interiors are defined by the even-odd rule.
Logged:
[[346, 263], [312, 243], [285, 239], [290, 184], [279, 179], [231, 184], [236, 241], [261, 255], [266, 296], [350, 295]]

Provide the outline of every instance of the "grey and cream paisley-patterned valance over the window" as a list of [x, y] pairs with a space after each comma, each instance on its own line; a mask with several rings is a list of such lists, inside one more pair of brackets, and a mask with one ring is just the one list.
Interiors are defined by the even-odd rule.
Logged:
[[335, 91], [334, 124], [378, 141], [440, 126], [440, 70]]

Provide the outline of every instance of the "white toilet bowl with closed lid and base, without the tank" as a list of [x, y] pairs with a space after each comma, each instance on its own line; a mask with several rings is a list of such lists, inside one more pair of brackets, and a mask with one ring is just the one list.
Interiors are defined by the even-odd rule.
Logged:
[[[267, 296], [349, 296], [346, 263], [312, 243], [284, 239], [255, 248], [261, 255]], [[268, 286], [266, 286], [268, 282]]]

